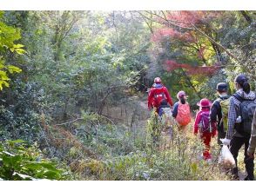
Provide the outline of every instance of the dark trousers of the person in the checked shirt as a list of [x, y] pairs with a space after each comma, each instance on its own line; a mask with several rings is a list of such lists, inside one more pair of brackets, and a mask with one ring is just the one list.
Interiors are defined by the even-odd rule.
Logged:
[[[245, 144], [245, 164], [246, 164], [246, 171], [247, 171], [247, 176], [246, 180], [248, 181], [253, 181], [254, 180], [254, 175], [253, 175], [253, 169], [254, 169], [254, 163], [253, 160], [254, 158], [250, 158], [247, 155], [247, 148], [249, 146], [249, 140], [250, 137], [236, 137], [233, 136], [232, 140], [230, 142], [230, 152], [232, 153], [234, 160], [236, 161], [236, 166], [238, 166], [238, 161], [237, 157], [239, 155], [239, 149]], [[239, 169], [238, 167], [232, 168], [232, 175], [235, 175], [238, 177]]]

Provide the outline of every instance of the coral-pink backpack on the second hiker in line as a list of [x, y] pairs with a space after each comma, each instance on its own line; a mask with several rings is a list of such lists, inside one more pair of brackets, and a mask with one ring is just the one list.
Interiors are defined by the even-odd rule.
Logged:
[[187, 102], [185, 102], [185, 104], [182, 104], [181, 102], [179, 102], [176, 121], [179, 123], [179, 125], [182, 125], [182, 126], [185, 126], [191, 122], [190, 107]]

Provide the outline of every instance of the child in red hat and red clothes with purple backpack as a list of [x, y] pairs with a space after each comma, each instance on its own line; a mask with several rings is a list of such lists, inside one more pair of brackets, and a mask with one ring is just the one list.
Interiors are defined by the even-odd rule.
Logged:
[[[210, 125], [210, 108], [212, 102], [208, 99], [201, 99], [197, 104], [200, 109], [197, 113], [194, 123], [194, 135], [199, 133], [200, 139], [205, 144], [205, 150], [203, 152], [203, 158], [205, 161], [212, 161], [212, 155], [210, 154], [211, 138], [216, 135], [216, 128], [211, 128]], [[216, 126], [215, 126], [216, 127]]]

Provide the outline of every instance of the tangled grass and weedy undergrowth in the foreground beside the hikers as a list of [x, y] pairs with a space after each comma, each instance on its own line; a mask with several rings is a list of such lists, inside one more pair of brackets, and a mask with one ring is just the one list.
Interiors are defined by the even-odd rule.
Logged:
[[175, 124], [170, 129], [154, 115], [146, 127], [131, 129], [84, 113], [72, 125], [51, 127], [49, 141], [77, 180], [230, 180], [219, 168], [216, 140], [213, 161], [207, 163], [199, 159], [203, 144], [192, 135], [192, 126], [186, 134]]

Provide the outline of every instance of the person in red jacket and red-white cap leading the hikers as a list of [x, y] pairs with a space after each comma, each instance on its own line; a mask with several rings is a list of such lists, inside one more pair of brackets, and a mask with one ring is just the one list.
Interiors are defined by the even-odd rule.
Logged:
[[168, 89], [161, 83], [161, 79], [156, 77], [148, 95], [148, 109], [154, 107], [157, 109], [157, 112], [159, 112], [160, 108], [168, 107], [168, 103], [172, 107], [172, 97], [170, 96]]

